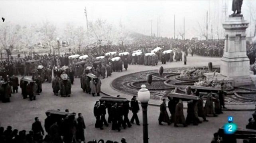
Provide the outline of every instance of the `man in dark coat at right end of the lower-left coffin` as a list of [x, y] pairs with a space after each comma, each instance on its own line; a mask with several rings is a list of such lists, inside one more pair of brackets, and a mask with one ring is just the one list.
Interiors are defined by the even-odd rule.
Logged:
[[77, 140], [85, 141], [85, 121], [81, 113], [78, 113], [77, 118]]

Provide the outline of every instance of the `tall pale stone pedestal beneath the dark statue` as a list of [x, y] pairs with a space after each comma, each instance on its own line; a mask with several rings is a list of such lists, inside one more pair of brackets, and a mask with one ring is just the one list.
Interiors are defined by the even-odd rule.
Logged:
[[244, 17], [228, 17], [223, 23], [225, 47], [221, 58], [221, 75], [234, 79], [234, 86], [250, 85], [250, 61], [246, 55], [246, 28]]

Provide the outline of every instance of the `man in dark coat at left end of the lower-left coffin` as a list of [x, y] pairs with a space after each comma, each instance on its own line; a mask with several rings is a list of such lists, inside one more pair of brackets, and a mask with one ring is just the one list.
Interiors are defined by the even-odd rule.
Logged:
[[35, 122], [32, 124], [32, 131], [34, 132], [34, 135], [35, 135], [35, 138], [34, 138], [35, 141], [38, 141], [43, 138], [42, 135], [44, 135], [44, 131], [38, 117], [35, 117]]

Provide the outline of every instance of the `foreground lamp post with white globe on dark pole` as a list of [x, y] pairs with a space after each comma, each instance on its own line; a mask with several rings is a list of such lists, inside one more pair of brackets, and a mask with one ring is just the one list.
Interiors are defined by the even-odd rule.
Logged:
[[141, 89], [138, 91], [138, 99], [142, 106], [142, 118], [143, 118], [143, 143], [148, 143], [148, 115], [147, 107], [150, 100], [150, 92], [146, 89], [146, 85], [141, 85]]

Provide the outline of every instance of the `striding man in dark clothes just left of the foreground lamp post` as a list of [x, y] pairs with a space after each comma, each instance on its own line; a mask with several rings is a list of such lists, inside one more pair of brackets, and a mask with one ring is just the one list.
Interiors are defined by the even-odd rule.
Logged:
[[139, 118], [138, 118], [138, 115], [137, 115], [137, 113], [140, 111], [140, 107], [139, 107], [138, 100], [136, 99], [136, 96], [132, 97], [131, 110], [132, 110], [131, 123], [134, 124], [134, 119], [135, 119], [136, 124], [140, 126], [140, 121], [139, 121]]

